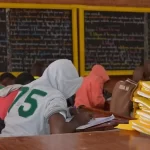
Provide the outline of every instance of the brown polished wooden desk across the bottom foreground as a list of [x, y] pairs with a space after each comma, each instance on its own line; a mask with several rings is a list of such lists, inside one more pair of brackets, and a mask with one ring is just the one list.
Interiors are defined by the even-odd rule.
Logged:
[[0, 138], [0, 150], [149, 150], [150, 136], [110, 131]]

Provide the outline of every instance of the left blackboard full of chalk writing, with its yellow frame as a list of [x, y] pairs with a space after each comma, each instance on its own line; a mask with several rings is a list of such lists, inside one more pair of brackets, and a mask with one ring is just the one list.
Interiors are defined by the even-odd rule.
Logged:
[[0, 72], [27, 71], [36, 61], [47, 66], [64, 58], [77, 67], [77, 23], [72, 19], [76, 9], [42, 4], [5, 6], [0, 9]]

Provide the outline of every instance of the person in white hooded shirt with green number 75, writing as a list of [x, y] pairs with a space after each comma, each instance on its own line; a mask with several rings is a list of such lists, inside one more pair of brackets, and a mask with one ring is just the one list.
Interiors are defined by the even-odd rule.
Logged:
[[21, 88], [8, 111], [1, 136], [35, 136], [74, 132], [89, 122], [91, 115], [80, 112], [70, 122], [66, 99], [82, 84], [72, 62], [61, 59], [53, 62], [41, 78]]

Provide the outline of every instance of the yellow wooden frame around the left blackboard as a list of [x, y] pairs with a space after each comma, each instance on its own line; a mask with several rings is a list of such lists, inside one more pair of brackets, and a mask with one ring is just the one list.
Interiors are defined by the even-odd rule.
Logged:
[[[55, 4], [28, 4], [28, 3], [0, 3], [0, 8], [18, 9], [62, 9], [72, 11], [72, 42], [73, 42], [73, 63], [78, 70], [78, 40], [77, 40], [77, 8], [75, 5], [55, 5]], [[2, 74], [3, 72], [0, 72]], [[18, 76], [21, 72], [12, 72]]]

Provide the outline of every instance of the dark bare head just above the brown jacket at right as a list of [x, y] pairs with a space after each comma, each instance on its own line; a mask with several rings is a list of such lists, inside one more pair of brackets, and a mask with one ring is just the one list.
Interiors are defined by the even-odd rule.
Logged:
[[144, 79], [144, 67], [143, 66], [136, 67], [133, 72], [132, 80], [135, 82], [139, 82], [140, 80], [143, 79]]

